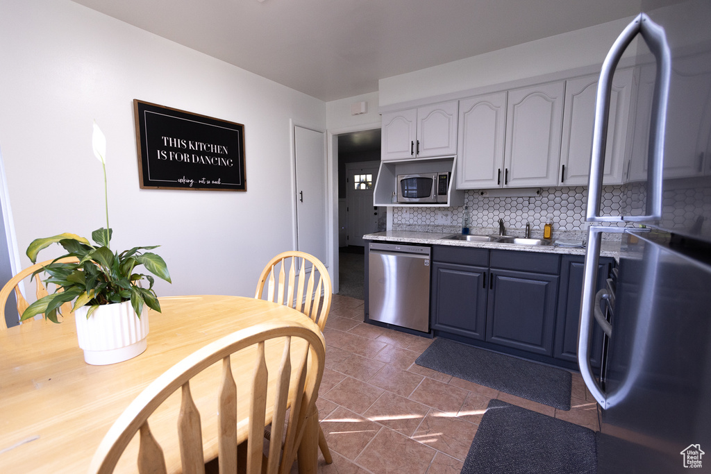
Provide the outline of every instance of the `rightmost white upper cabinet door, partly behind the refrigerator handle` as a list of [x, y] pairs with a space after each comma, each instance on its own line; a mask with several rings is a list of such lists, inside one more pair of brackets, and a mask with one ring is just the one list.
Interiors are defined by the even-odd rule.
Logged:
[[[559, 185], [587, 185], [599, 75], [565, 82]], [[612, 81], [605, 146], [604, 184], [621, 184], [632, 92], [632, 70], [618, 70]]]

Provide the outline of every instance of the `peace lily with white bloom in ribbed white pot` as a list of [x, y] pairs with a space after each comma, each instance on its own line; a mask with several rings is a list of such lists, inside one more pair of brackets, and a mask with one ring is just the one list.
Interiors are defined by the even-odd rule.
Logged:
[[[64, 233], [35, 239], [27, 249], [34, 263], [37, 254], [51, 244], [58, 243], [68, 252], [57, 259], [76, 257], [77, 263], [58, 263], [57, 259], [41, 271], [48, 274], [46, 283], [54, 284], [55, 291], [32, 303], [21, 316], [21, 321], [44, 313], [45, 318], [58, 323], [63, 303], [74, 301], [77, 338], [84, 350], [87, 363], [105, 365], [130, 359], [146, 349], [149, 325], [146, 306], [160, 312], [161, 306], [153, 289], [154, 277], [142, 274], [143, 265], [149, 272], [171, 282], [166, 262], [159, 255], [146, 250], [152, 247], [133, 247], [123, 252], [112, 252], [112, 230], [109, 227], [109, 208], [106, 181], [106, 139], [97, 124], [92, 135], [94, 154], [104, 169], [106, 227], [92, 232], [88, 239]], [[147, 281], [148, 288], [141, 282]]]

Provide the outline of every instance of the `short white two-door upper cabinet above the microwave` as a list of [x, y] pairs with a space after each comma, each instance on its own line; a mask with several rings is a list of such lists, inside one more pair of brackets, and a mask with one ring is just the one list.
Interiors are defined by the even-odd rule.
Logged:
[[456, 154], [459, 101], [383, 113], [383, 161]]

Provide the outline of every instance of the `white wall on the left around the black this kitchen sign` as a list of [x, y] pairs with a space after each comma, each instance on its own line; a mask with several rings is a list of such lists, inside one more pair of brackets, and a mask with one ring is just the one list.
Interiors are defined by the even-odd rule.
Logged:
[[[252, 296], [267, 260], [292, 248], [289, 119], [325, 129], [324, 102], [70, 1], [1, 10], [0, 146], [21, 252], [105, 225], [95, 119], [112, 248], [160, 244], [173, 284], [156, 284], [159, 295]], [[247, 192], [141, 190], [133, 99], [245, 124]]]

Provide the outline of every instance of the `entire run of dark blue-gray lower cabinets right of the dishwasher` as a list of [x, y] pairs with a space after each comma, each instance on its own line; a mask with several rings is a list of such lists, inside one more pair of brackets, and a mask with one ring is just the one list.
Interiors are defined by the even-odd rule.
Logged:
[[[434, 334], [574, 369], [583, 263], [576, 255], [434, 245]], [[613, 264], [600, 259], [599, 288]], [[597, 366], [602, 331], [593, 345]]]

